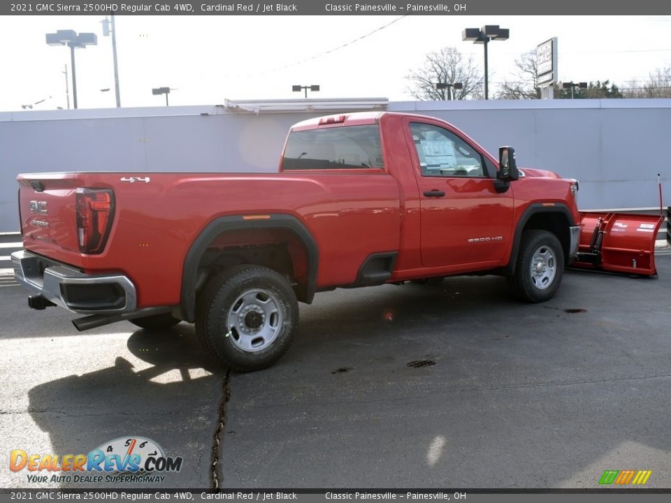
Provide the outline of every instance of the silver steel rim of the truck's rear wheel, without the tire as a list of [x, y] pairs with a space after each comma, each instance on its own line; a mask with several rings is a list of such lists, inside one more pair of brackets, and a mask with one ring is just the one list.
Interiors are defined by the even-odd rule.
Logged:
[[244, 291], [231, 304], [226, 314], [226, 337], [243, 351], [263, 351], [273, 344], [282, 329], [280, 306], [280, 300], [271, 291]]

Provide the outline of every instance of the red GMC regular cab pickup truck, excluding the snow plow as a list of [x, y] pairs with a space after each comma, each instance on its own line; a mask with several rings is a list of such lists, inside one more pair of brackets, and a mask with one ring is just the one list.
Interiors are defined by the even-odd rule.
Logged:
[[250, 371], [282, 356], [316, 292], [487, 273], [542, 302], [578, 251], [575, 180], [432, 117], [301, 122], [279, 171], [19, 175], [15, 277], [31, 307], [86, 314], [79, 330], [187, 321]]

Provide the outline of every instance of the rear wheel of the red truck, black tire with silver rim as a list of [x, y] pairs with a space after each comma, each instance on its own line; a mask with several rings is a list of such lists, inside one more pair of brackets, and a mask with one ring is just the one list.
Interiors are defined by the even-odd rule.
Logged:
[[273, 365], [298, 326], [296, 293], [279, 272], [238, 265], [213, 277], [196, 306], [196, 333], [205, 351], [239, 372]]

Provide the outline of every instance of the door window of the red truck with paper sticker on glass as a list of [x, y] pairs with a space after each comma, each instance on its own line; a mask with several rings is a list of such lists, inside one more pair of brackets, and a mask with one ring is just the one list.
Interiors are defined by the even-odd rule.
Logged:
[[410, 132], [417, 149], [422, 176], [484, 177], [482, 156], [452, 131], [412, 122]]

